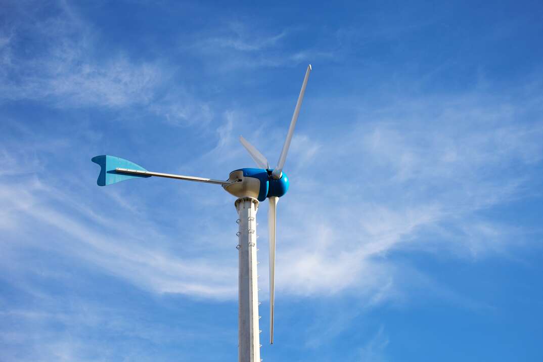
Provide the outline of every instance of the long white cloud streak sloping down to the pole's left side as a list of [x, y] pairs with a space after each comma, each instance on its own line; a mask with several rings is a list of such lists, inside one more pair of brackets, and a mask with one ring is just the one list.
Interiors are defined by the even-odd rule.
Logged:
[[[25, 231], [24, 225], [32, 223], [35, 231], [49, 233], [47, 248], [83, 259], [142, 288], [217, 299], [236, 294], [235, 265], [217, 268], [224, 261], [183, 260], [168, 255], [160, 243], [144, 242], [156, 239], [155, 230], [135, 229], [126, 220], [107, 220], [85, 205], [73, 205], [77, 203], [73, 196], [39, 181], [2, 183], [0, 200], [4, 211], [19, 221], [15, 230], [11, 223], [0, 224], [4, 232], [10, 232], [8, 239], [17, 235], [17, 243], [4, 247], [28, 244], [41, 249], [43, 246]], [[52, 206], [58, 202], [62, 205], [59, 209]]]

